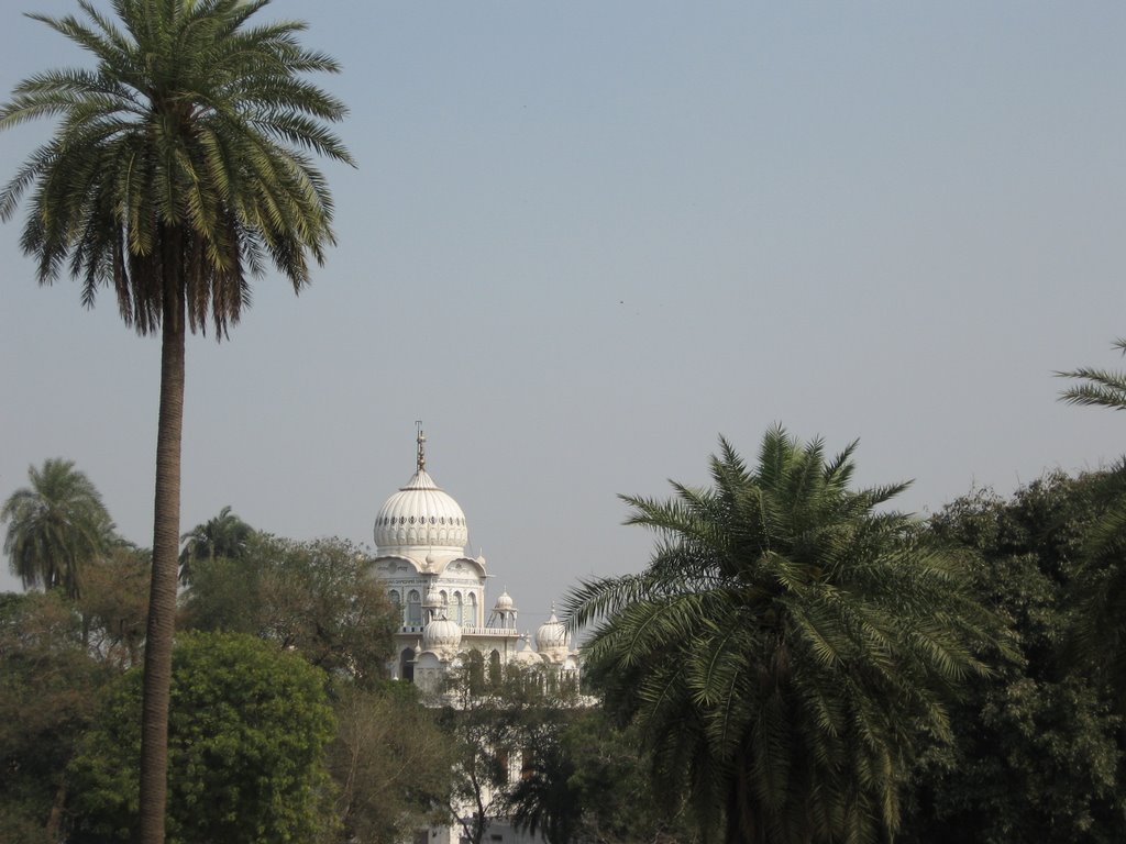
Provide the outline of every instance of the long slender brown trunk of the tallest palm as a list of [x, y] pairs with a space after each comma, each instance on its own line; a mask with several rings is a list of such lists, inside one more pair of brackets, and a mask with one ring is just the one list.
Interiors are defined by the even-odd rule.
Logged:
[[141, 719], [140, 844], [163, 844], [168, 797], [168, 708], [176, 628], [180, 546], [180, 439], [184, 428], [185, 302], [181, 233], [162, 232], [164, 289], [161, 315], [160, 417], [153, 508], [152, 582], [144, 652]]

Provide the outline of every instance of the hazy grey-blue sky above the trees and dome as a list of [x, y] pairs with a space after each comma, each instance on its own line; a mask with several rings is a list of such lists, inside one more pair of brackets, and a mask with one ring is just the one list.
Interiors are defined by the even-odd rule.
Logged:
[[[108, 5], [107, 5], [108, 6]], [[82, 63], [6, 0], [0, 96]], [[1126, 333], [1126, 5], [276, 0], [334, 54], [339, 245], [188, 349], [184, 530], [372, 541], [414, 466], [534, 629], [651, 537], [618, 493], [781, 422], [927, 513], [1124, 451], [1056, 402]], [[0, 136], [7, 180], [50, 126]], [[77, 461], [151, 544], [159, 342], [0, 226], [0, 499]], [[0, 587], [15, 581], [0, 575]]]

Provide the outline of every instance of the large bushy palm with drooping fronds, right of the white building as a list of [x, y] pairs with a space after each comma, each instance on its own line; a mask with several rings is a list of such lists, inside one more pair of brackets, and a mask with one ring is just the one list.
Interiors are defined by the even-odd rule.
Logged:
[[921, 547], [877, 508], [904, 485], [851, 490], [852, 443], [781, 428], [751, 469], [725, 441], [711, 488], [628, 497], [660, 535], [641, 574], [583, 583], [573, 627], [607, 706], [635, 719], [654, 784], [687, 789], [705, 835], [866, 842], [894, 834], [921, 736], [997, 636], [956, 555]]

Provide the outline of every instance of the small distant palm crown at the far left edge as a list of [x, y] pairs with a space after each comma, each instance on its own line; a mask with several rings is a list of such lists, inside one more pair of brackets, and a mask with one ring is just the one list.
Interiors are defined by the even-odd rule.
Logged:
[[3, 551], [24, 587], [61, 586], [78, 599], [82, 567], [108, 551], [114, 522], [101, 495], [72, 460], [51, 459], [29, 466], [30, 486], [14, 492], [0, 510], [8, 523]]

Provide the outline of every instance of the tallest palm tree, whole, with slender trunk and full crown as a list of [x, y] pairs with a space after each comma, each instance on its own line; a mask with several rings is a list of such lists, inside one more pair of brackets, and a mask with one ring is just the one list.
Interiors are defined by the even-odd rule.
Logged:
[[188, 330], [216, 338], [271, 262], [300, 290], [333, 242], [311, 153], [351, 161], [329, 123], [346, 108], [304, 79], [337, 72], [303, 48], [304, 24], [252, 25], [268, 0], [78, 0], [81, 17], [32, 15], [96, 66], [20, 82], [0, 128], [57, 131], [0, 191], [0, 218], [34, 186], [21, 246], [41, 284], [69, 271], [92, 305], [113, 289], [126, 325], [161, 335], [153, 574], [145, 647], [141, 841], [163, 841], [168, 690], [180, 539], [180, 434]]

